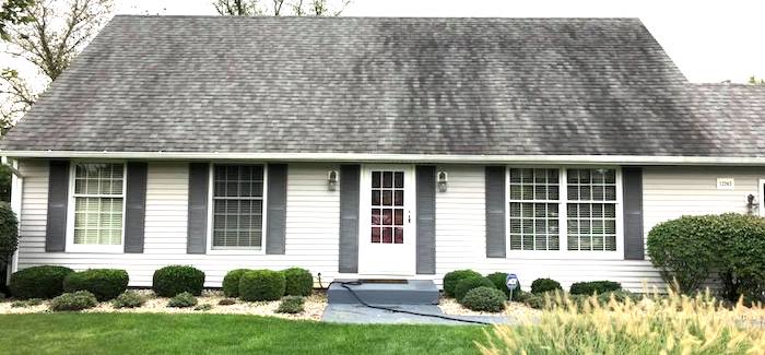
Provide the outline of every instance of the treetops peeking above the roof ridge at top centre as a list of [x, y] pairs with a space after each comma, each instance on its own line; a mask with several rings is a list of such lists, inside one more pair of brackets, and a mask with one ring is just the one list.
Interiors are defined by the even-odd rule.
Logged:
[[229, 16], [339, 16], [351, 0], [213, 0], [217, 13]]

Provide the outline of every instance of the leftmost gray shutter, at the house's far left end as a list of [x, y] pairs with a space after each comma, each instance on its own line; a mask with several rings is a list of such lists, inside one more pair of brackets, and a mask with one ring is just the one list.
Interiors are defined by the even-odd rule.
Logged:
[[45, 251], [63, 251], [67, 245], [67, 203], [69, 202], [69, 162], [51, 161], [48, 170], [48, 221]]

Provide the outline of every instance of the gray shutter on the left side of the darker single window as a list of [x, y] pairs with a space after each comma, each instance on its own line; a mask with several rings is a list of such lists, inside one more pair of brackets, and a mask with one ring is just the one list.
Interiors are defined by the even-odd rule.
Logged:
[[210, 164], [189, 164], [189, 221], [186, 252], [205, 253]]

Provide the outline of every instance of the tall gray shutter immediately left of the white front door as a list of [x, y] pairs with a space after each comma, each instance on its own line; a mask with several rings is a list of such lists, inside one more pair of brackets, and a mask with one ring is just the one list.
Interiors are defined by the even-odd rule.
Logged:
[[340, 272], [358, 272], [358, 185], [361, 166], [340, 166]]

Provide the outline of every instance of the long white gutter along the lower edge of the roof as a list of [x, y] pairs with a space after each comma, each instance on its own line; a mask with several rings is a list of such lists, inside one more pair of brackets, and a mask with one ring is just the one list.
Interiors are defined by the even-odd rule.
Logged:
[[368, 153], [219, 153], [219, 152], [83, 152], [0, 151], [11, 157], [121, 158], [121, 159], [232, 159], [291, 162], [389, 162], [459, 164], [579, 164], [579, 165], [728, 165], [765, 166], [765, 157], [650, 156], [650, 155], [448, 155]]

